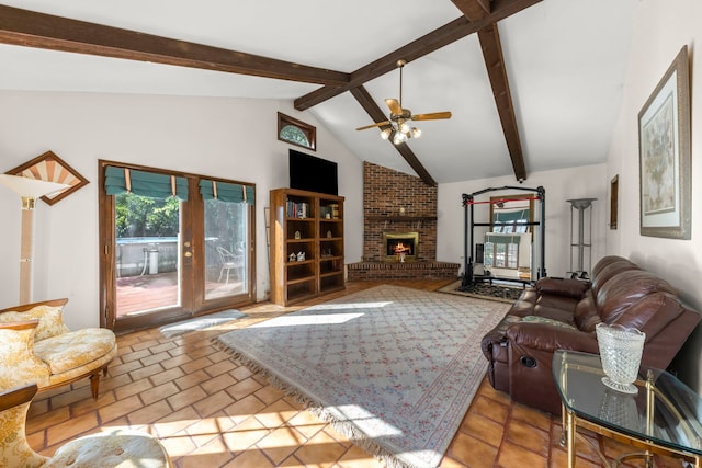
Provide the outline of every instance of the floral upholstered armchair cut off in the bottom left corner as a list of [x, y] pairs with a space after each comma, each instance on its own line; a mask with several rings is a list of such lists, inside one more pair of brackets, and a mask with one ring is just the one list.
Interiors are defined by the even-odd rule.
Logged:
[[0, 391], [0, 466], [22, 468], [172, 468], [158, 438], [140, 432], [112, 430], [86, 435], [60, 446], [53, 457], [26, 441], [26, 412], [37, 387], [31, 384]]

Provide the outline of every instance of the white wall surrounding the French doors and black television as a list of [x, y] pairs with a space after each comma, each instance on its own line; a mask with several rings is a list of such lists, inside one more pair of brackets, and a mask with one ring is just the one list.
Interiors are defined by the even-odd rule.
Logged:
[[[68, 297], [70, 328], [99, 324], [98, 159], [257, 184], [257, 294], [269, 290], [263, 208], [287, 186], [290, 145], [276, 112], [317, 126], [315, 156], [339, 163], [346, 255], [362, 253], [362, 163], [290, 102], [154, 95], [0, 92], [0, 172], [54, 151], [90, 184], [35, 212], [34, 299]], [[0, 190], [0, 308], [19, 300], [20, 201]]]

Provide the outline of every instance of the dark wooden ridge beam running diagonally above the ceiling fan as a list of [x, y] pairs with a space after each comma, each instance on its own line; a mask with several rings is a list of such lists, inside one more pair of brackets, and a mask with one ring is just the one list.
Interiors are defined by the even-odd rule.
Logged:
[[497, 23], [514, 13], [518, 13], [541, 0], [494, 0], [492, 11], [483, 19], [471, 21], [466, 16], [461, 16], [424, 36], [378, 58], [377, 60], [351, 72], [349, 82], [342, 85], [325, 85], [318, 90], [297, 98], [294, 102], [295, 109], [305, 111], [335, 98], [346, 91], [393, 71], [397, 68], [397, 60], [405, 59], [408, 62], [431, 54], [451, 43], [454, 43], [473, 33], [477, 33], [483, 27]]

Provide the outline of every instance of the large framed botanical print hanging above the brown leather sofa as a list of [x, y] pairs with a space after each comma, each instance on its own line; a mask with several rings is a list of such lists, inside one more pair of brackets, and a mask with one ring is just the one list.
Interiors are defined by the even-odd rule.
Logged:
[[641, 235], [690, 239], [690, 77], [684, 46], [638, 113]]

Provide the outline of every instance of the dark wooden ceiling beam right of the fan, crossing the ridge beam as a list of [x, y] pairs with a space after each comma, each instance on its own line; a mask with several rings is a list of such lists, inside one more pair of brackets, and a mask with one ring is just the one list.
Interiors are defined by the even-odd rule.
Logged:
[[[490, 12], [490, 5], [489, 3], [486, 4], [485, 0], [451, 1], [471, 21], [483, 20]], [[517, 117], [514, 116], [512, 94], [509, 89], [509, 80], [507, 79], [507, 67], [505, 66], [502, 44], [500, 42], [497, 23], [478, 31], [478, 39], [483, 50], [483, 58], [485, 59], [485, 67], [490, 78], [495, 105], [497, 106], [500, 123], [502, 124], [507, 150], [512, 161], [512, 170], [514, 171], [517, 180], [521, 182], [526, 179], [526, 168], [521, 140], [519, 138], [519, 128], [517, 126]]]

